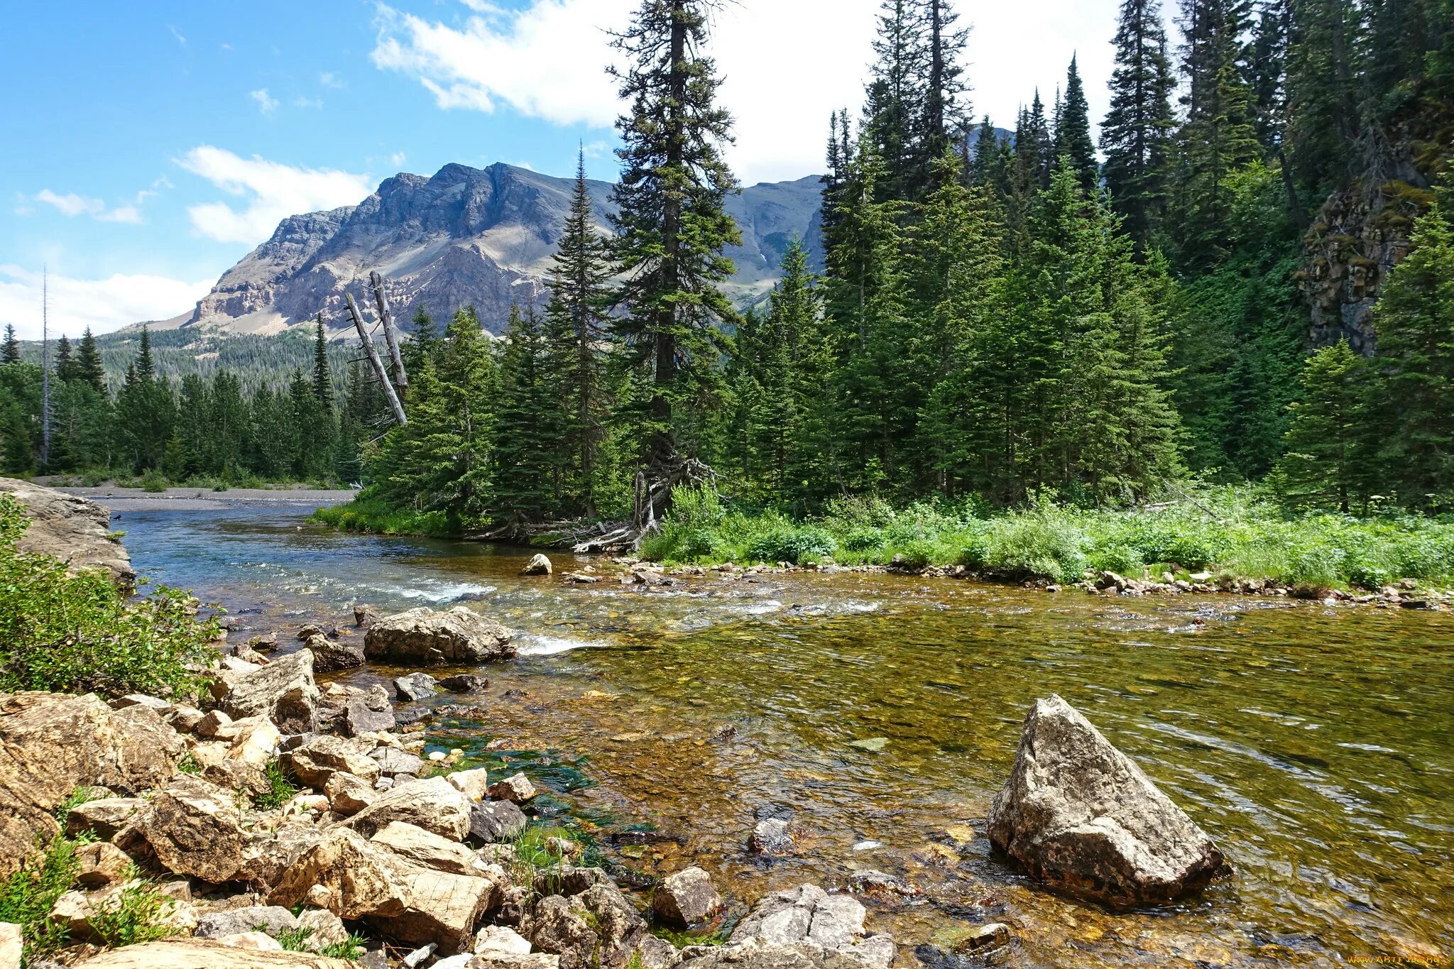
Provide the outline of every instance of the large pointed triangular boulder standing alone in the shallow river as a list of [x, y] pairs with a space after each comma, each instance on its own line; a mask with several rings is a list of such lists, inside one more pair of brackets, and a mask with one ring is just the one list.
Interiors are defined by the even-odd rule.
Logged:
[[1112, 905], [1172, 901], [1227, 867], [1207, 832], [1054, 694], [1025, 718], [989, 838], [1037, 877]]

